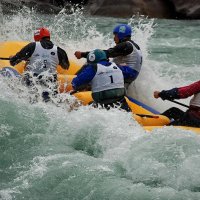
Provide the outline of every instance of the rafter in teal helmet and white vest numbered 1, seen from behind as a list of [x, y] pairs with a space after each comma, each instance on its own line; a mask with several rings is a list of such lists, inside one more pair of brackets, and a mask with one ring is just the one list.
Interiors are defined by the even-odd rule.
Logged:
[[130, 111], [125, 99], [124, 77], [114, 62], [109, 62], [106, 53], [95, 49], [87, 55], [87, 64], [72, 80], [72, 87], [79, 91], [91, 85], [92, 97], [96, 105], [106, 109], [118, 105]]

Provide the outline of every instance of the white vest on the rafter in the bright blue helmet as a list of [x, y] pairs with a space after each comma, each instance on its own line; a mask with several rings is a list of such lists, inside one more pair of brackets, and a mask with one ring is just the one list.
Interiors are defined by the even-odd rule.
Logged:
[[117, 56], [116, 58], [113, 58], [113, 62], [115, 62], [117, 65], [126, 64], [139, 73], [142, 66], [142, 52], [141, 50], [137, 49], [132, 42], [127, 42], [131, 43], [133, 46], [133, 51], [126, 56]]

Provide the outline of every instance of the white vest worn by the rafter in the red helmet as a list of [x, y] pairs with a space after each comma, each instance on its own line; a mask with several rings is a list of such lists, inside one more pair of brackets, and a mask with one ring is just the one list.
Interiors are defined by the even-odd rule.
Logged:
[[44, 49], [40, 42], [36, 42], [35, 51], [29, 59], [27, 70], [40, 74], [48, 71], [56, 73], [56, 67], [59, 64], [57, 46], [52, 49]]

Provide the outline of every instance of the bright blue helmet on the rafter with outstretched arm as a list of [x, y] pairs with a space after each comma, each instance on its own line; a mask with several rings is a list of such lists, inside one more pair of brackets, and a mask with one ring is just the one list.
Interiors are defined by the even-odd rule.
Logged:
[[120, 40], [123, 40], [125, 37], [131, 37], [132, 34], [131, 26], [127, 24], [117, 25], [113, 29], [113, 34], [116, 34]]

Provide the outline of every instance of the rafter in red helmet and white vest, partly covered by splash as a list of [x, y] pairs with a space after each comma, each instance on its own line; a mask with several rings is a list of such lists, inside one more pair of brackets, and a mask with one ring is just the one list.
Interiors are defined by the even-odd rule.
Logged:
[[22, 82], [29, 88], [34, 88], [37, 84], [43, 86], [45, 89], [42, 92], [43, 100], [49, 101], [50, 93], [52, 93], [52, 96], [58, 93], [57, 65], [60, 65], [63, 69], [68, 69], [69, 60], [66, 52], [51, 42], [48, 29], [40, 28], [36, 30], [34, 40], [35, 42], [29, 43], [15, 56], [12, 56], [10, 64], [14, 66], [22, 60], [27, 61]]

